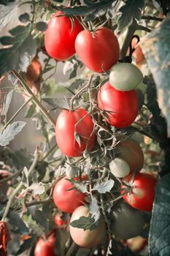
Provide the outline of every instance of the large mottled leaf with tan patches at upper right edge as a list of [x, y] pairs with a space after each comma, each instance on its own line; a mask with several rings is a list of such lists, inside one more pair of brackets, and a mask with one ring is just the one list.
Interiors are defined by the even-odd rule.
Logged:
[[153, 30], [141, 42], [142, 51], [152, 72], [158, 92], [158, 104], [168, 122], [168, 136], [170, 136], [170, 18]]

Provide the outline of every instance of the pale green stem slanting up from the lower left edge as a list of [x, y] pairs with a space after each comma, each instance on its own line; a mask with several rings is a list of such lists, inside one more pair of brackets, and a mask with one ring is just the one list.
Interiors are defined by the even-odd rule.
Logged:
[[[39, 156], [38, 150], [36, 149], [34, 161], [33, 161], [31, 167], [30, 167], [29, 170], [28, 170], [28, 176], [30, 176], [31, 172], [34, 170], [34, 167], [36, 166], [36, 162], [37, 162], [37, 160], [38, 160], [38, 156]], [[22, 187], [23, 187], [23, 181], [20, 181], [20, 183], [18, 184], [18, 186], [14, 189], [14, 191], [12, 192], [12, 194], [9, 196], [9, 200], [8, 200], [8, 202], [7, 202], [7, 206], [6, 206], [5, 211], [4, 211], [4, 215], [3, 215], [2, 219], [1, 219], [2, 222], [4, 222], [4, 221], [6, 220], [7, 214], [8, 214], [8, 212], [9, 212], [9, 208], [10, 208], [11, 203], [12, 203], [12, 200], [13, 200], [13, 198], [15, 197], [15, 195], [17, 195], [18, 191], [19, 191]]]

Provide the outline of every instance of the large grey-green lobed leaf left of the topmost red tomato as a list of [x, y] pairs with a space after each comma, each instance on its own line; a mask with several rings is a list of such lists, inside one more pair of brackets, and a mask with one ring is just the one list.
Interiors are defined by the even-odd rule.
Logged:
[[9, 30], [9, 34], [12, 35], [13, 44], [11, 47], [0, 49], [0, 76], [12, 69], [26, 72], [30, 56], [36, 54], [36, 42], [29, 24], [16, 26]]

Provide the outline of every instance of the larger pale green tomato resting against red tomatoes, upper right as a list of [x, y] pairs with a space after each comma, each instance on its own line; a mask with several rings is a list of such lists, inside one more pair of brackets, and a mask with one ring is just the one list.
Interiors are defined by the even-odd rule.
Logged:
[[117, 91], [134, 90], [143, 79], [142, 72], [134, 64], [115, 64], [109, 74], [109, 83]]

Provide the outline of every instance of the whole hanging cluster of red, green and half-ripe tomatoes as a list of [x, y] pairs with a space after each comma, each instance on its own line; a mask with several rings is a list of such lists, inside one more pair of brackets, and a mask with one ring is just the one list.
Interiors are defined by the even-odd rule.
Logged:
[[[142, 82], [142, 72], [134, 64], [119, 61], [119, 42], [112, 30], [101, 26], [95, 31], [88, 31], [83, 28], [80, 18], [69, 18], [63, 12], [56, 12], [49, 21], [45, 48], [54, 59], [65, 61], [77, 53], [91, 71], [105, 74], [109, 70], [109, 81], [97, 87], [95, 103], [93, 106], [89, 104], [89, 112], [88, 107], [74, 108], [71, 103], [71, 108], [61, 110], [56, 121], [58, 148], [67, 159], [85, 158], [93, 154], [93, 148], [100, 151], [96, 123], [100, 122], [101, 128], [107, 127], [110, 133], [113, 127], [117, 131], [131, 126], [135, 121], [139, 113], [136, 88]], [[143, 230], [145, 221], [141, 211], [152, 211], [156, 180], [148, 174], [139, 173], [144, 165], [144, 154], [135, 140], [122, 137], [113, 149], [115, 157], [106, 164], [108, 176], [120, 181], [120, 195], [126, 203], [114, 209], [111, 231], [117, 238], [127, 239], [139, 235]], [[65, 167], [66, 176], [61, 177], [53, 189], [53, 201], [59, 211], [72, 214], [70, 222], [74, 222], [90, 214], [89, 194], [79, 191], [76, 182], [86, 184], [89, 189], [89, 186], [93, 187], [93, 180], [89, 185], [89, 177], [82, 176], [83, 170], [72, 165], [70, 160]], [[98, 197], [95, 193], [90, 193], [90, 196], [92, 194]], [[68, 224], [63, 222], [60, 214], [55, 216], [54, 221], [61, 228]], [[134, 223], [135, 227], [132, 225]], [[125, 233], [126, 228], [128, 233]], [[69, 232], [77, 245], [90, 248], [105, 241], [107, 225], [100, 219], [92, 230], [69, 225]], [[44, 241], [40, 239], [38, 243]], [[48, 244], [52, 246], [53, 242]], [[37, 249], [35, 252], [37, 254]]]

